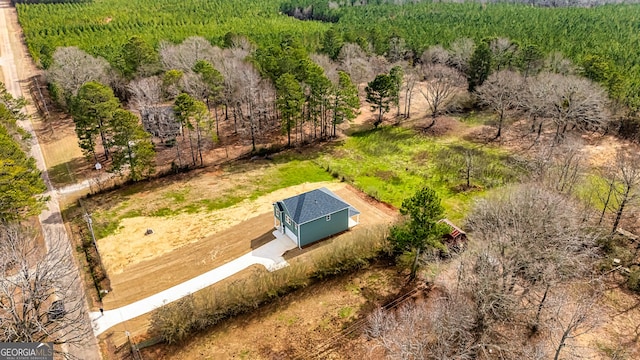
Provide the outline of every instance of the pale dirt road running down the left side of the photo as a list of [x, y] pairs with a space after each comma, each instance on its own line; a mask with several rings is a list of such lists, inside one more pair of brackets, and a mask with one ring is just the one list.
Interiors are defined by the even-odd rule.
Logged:
[[[9, 0], [0, 0], [0, 67], [3, 72], [3, 79], [7, 90], [14, 97], [23, 95], [29, 97], [26, 86], [28, 86], [28, 79], [35, 75], [35, 67], [26, 55], [26, 47], [21, 42], [21, 34], [22, 31], [18, 25], [15, 9], [10, 6]], [[25, 91], [23, 91], [23, 86], [25, 87]], [[31, 99], [29, 99], [29, 101], [31, 101]], [[38, 115], [33, 107], [27, 108], [27, 113], [31, 116]], [[31, 121], [23, 121], [20, 123], [20, 126], [27, 130], [33, 137], [30, 155], [36, 160], [38, 168], [42, 171], [42, 176], [48, 189], [47, 195], [50, 195], [51, 199], [47, 203], [47, 208], [39, 216], [45, 242], [49, 244], [55, 238], [61, 238], [66, 244], [69, 244], [68, 235], [62, 221], [62, 216], [60, 215], [56, 192], [49, 180], [47, 166], [44, 162], [42, 150], [40, 149], [38, 138], [33, 131]], [[67, 246], [67, 255], [73, 261], [73, 253], [70, 245]], [[76, 285], [78, 285], [77, 282]], [[77, 287], [77, 291], [83, 291], [81, 286]], [[88, 312], [86, 303], [85, 308]], [[90, 319], [87, 317], [86, 321], [89, 322]], [[78, 359], [93, 360], [101, 358], [93, 334], [87, 334], [86, 339], [84, 339], [79, 346], [64, 346], [62, 350]]]

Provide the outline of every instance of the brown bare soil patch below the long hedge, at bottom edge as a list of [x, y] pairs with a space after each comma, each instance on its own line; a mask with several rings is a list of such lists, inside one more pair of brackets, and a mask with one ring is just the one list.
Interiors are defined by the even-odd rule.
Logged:
[[[374, 266], [289, 294], [225, 321], [179, 346], [143, 350], [145, 359], [376, 359], [359, 337], [341, 335], [402, 292], [403, 275]], [[268, 329], [268, 331], [265, 331]], [[319, 353], [322, 345], [331, 349]]]

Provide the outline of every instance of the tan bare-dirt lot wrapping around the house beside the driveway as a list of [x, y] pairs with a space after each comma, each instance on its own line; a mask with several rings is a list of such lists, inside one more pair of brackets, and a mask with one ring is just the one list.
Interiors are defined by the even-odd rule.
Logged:
[[[143, 299], [273, 239], [271, 204], [322, 186], [361, 211], [358, 227], [393, 220], [390, 209], [337, 182], [288, 187], [213, 212], [127, 218], [116, 234], [98, 241], [112, 287], [112, 292], [103, 299], [104, 308], [113, 309]], [[154, 234], [145, 236], [147, 228], [152, 228]]]

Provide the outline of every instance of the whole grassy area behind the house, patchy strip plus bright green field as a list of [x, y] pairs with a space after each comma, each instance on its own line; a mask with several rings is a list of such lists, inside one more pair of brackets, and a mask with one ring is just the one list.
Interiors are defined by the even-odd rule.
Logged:
[[[466, 188], [463, 169], [449, 166], [452, 147], [474, 147], [482, 158], [482, 171]], [[368, 195], [400, 207], [423, 186], [435, 189], [446, 216], [461, 219], [472, 199], [484, 191], [514, 182], [511, 157], [493, 147], [477, 148], [456, 138], [431, 138], [401, 127], [383, 127], [354, 134], [344, 143], [321, 153], [286, 152], [272, 162], [241, 162], [221, 176], [161, 179], [157, 184], [134, 184], [104, 195], [95, 202], [96, 233], [104, 237], [118, 229], [122, 219], [138, 216], [174, 216], [214, 211], [245, 199], [256, 199], [278, 189], [305, 182], [344, 180]], [[144, 197], [144, 201], [140, 201]]]

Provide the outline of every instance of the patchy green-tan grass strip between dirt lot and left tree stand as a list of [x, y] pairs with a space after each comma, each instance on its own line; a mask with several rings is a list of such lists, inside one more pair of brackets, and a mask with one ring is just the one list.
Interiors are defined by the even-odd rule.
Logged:
[[[289, 186], [333, 180], [311, 160], [281, 158], [276, 158], [274, 164], [251, 162], [228, 166], [224, 175], [211, 176], [212, 180], [206, 174], [192, 179], [168, 179], [133, 184], [99, 195], [92, 210], [96, 236], [112, 234], [126, 218], [214, 211]], [[210, 181], [218, 184], [209, 186]]]

